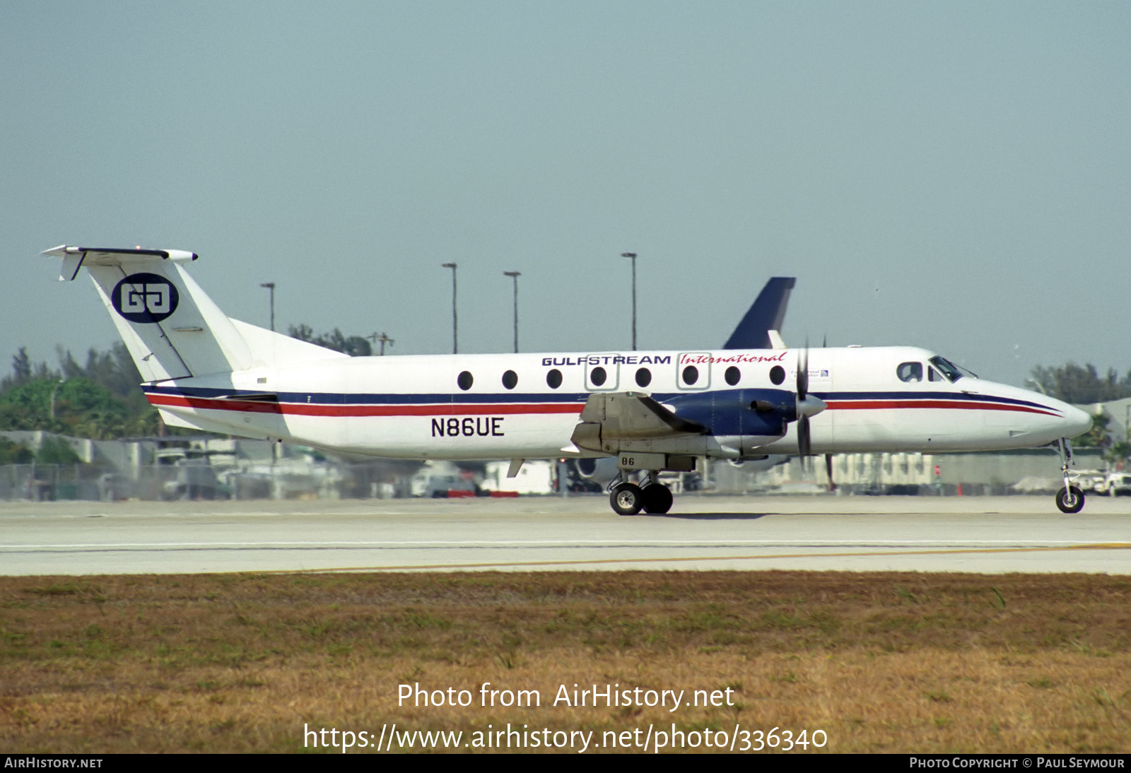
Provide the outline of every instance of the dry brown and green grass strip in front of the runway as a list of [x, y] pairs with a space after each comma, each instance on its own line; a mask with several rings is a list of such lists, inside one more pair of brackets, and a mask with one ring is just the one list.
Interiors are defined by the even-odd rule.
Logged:
[[[541, 705], [484, 706], [483, 683]], [[575, 685], [722, 705], [553, 705]], [[1128, 752], [1131, 576], [0, 577], [7, 752], [300, 752], [304, 729], [394, 723], [461, 730], [460, 750], [510, 723], [592, 731], [590, 750], [651, 727], [698, 750], [779, 728], [809, 752]]]

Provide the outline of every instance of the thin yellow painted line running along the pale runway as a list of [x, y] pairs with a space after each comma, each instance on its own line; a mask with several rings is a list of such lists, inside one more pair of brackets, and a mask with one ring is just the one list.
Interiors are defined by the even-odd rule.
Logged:
[[1093, 542], [1089, 545], [1060, 545], [1052, 547], [1015, 547], [1015, 548], [948, 548], [944, 550], [853, 550], [848, 553], [783, 553], [778, 555], [754, 556], [681, 556], [650, 558], [579, 558], [575, 561], [518, 561], [487, 562], [481, 564], [404, 564], [400, 566], [338, 566], [322, 570], [273, 570], [260, 574], [301, 574], [326, 572], [407, 572], [411, 570], [460, 570], [491, 568], [516, 566], [586, 566], [594, 564], [647, 564], [655, 562], [689, 562], [689, 561], [774, 561], [777, 558], [853, 558], [867, 556], [938, 556], [973, 553], [1042, 553], [1051, 550], [1128, 550], [1131, 542]]

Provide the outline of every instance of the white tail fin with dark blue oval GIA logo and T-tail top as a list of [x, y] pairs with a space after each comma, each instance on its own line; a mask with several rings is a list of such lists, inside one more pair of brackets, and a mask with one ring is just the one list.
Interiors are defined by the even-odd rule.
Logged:
[[144, 381], [273, 365], [280, 354], [346, 356], [230, 319], [183, 269], [196, 253], [60, 245], [43, 254], [63, 259], [60, 280], [87, 269]]

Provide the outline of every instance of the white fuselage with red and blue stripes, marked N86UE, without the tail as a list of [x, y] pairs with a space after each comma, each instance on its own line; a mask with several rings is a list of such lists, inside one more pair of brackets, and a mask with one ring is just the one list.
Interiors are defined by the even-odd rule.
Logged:
[[[828, 405], [811, 419], [814, 453], [1034, 448], [1090, 426], [1053, 398], [969, 375], [952, 382], [924, 349], [808, 355], [809, 390]], [[454, 460], [601, 455], [570, 440], [589, 396], [645, 393], [709, 431], [668, 452], [736, 458], [734, 450], [796, 453], [788, 407], [797, 363], [796, 349], [355, 357], [144, 389], [163, 411], [201, 428]], [[920, 379], [900, 379], [900, 366], [914, 372], [908, 364]], [[758, 400], [784, 410], [759, 412]]]

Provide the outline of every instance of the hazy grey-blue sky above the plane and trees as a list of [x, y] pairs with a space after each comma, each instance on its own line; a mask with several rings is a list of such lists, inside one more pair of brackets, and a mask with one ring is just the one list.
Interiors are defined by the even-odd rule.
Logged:
[[0, 372], [116, 337], [61, 243], [394, 354], [787, 341], [1131, 367], [1126, 2], [0, 2]]

